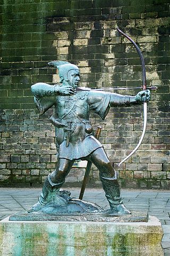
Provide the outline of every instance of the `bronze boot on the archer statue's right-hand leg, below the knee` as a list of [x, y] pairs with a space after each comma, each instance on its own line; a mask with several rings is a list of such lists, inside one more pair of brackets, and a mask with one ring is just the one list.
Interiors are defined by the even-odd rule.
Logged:
[[131, 212], [126, 209], [122, 203], [120, 188], [116, 175], [114, 178], [100, 177], [100, 180], [105, 191], [107, 201], [111, 207], [111, 213], [120, 215], [131, 214]]

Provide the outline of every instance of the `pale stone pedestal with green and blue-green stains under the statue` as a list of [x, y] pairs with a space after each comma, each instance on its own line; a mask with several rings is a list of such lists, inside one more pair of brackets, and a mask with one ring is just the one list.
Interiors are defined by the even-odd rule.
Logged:
[[163, 256], [162, 227], [148, 222], [0, 222], [0, 255]]

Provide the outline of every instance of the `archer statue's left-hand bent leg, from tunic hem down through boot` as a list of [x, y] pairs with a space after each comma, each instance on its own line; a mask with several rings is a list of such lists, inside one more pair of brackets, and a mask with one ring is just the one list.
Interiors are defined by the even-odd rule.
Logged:
[[45, 205], [55, 199], [55, 195], [65, 182], [66, 175], [70, 172], [74, 161], [58, 158], [56, 170], [48, 174], [43, 186], [39, 202]]

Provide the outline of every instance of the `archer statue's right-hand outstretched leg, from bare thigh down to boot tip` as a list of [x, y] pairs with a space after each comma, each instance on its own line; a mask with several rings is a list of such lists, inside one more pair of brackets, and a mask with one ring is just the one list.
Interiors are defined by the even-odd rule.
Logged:
[[100, 180], [112, 212], [118, 214], [130, 214], [131, 212], [126, 209], [122, 203], [116, 172], [109, 161], [105, 150], [103, 148], [96, 149], [94, 153], [90, 155], [89, 159], [99, 169]]

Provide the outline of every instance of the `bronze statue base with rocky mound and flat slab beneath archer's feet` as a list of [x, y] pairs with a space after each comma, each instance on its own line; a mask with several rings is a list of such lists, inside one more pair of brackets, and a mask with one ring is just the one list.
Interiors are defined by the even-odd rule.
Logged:
[[39, 202], [28, 211], [15, 213], [10, 221], [112, 221], [112, 222], [147, 222], [147, 212], [118, 215], [111, 210], [70, 196], [70, 191], [60, 190], [52, 201], [41, 205]]

